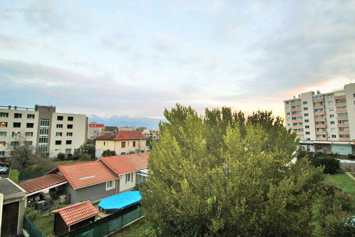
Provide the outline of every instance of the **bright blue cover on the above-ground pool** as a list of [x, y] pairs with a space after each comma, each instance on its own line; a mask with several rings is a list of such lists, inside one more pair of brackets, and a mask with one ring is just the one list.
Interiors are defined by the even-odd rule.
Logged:
[[141, 194], [139, 191], [129, 191], [104, 198], [99, 202], [98, 206], [105, 210], [121, 209], [131, 204], [138, 203], [140, 200]]

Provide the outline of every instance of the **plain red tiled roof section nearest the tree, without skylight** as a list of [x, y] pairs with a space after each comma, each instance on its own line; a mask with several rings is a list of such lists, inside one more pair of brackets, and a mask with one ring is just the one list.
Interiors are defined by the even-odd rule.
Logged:
[[149, 152], [136, 153], [121, 156], [101, 157], [108, 167], [110, 167], [116, 174], [126, 174], [146, 169], [148, 165]]

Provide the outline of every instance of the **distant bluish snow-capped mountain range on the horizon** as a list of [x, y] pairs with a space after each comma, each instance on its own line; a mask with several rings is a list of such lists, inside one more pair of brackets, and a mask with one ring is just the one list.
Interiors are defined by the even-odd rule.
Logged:
[[114, 115], [111, 117], [99, 117], [95, 114], [88, 115], [88, 123], [103, 123], [105, 126], [118, 127], [147, 127], [148, 129], [159, 128], [159, 122], [166, 122], [166, 119], [152, 119], [145, 117], [129, 117], [127, 115]]

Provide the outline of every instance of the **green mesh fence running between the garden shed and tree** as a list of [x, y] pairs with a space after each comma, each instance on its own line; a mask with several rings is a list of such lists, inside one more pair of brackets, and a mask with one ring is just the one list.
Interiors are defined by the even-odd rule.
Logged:
[[134, 204], [100, 220], [69, 231], [57, 237], [103, 237], [143, 216], [143, 210]]

